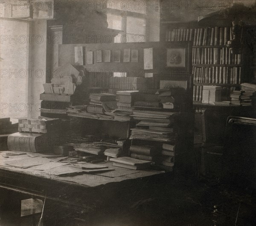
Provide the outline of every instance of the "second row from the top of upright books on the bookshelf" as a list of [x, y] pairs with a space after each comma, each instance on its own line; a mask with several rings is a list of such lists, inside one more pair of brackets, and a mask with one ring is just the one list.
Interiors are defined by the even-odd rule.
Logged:
[[193, 48], [193, 64], [241, 64], [241, 54], [231, 54], [231, 49], [222, 48]]

